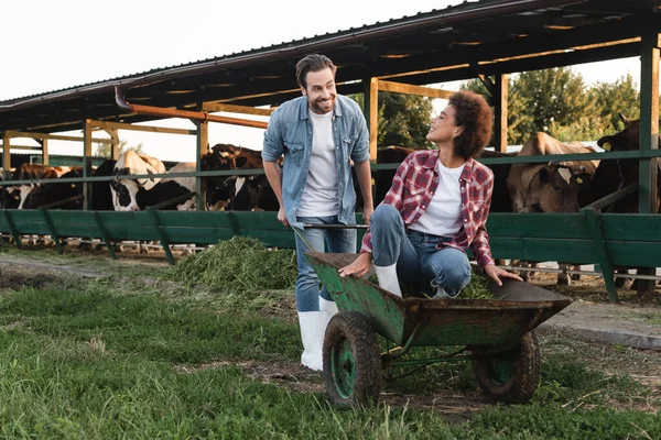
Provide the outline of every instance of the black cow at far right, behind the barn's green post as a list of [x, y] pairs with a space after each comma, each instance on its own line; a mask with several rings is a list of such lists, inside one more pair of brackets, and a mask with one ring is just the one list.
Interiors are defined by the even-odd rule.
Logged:
[[[618, 133], [605, 135], [597, 141], [597, 145], [606, 151], [637, 151], [640, 148], [640, 120], [629, 120], [625, 114], [619, 113], [620, 120], [625, 123], [625, 129]], [[660, 121], [661, 123], [661, 121]], [[661, 141], [661, 136], [659, 138]], [[658, 160], [657, 173], [661, 174], [661, 165]], [[621, 158], [602, 161], [592, 179], [590, 198], [588, 202], [602, 199], [609, 194], [617, 191], [626, 186], [638, 183], [639, 162], [637, 158]], [[653, 212], [659, 212], [661, 207], [661, 178], [657, 177], [657, 202]], [[619, 200], [616, 200], [603, 209], [605, 212], [638, 212], [638, 194], [631, 194]], [[627, 273], [629, 267], [615, 267], [616, 273]], [[616, 278], [616, 285], [624, 287], [626, 278]], [[637, 288], [637, 283], [631, 285], [631, 289]]]

